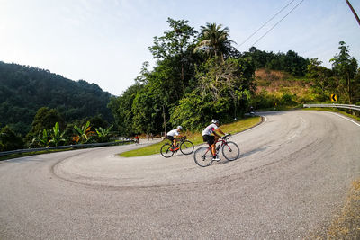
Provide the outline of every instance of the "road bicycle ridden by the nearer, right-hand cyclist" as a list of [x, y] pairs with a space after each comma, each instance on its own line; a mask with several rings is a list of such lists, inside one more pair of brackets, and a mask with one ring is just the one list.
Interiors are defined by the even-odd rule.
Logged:
[[[216, 147], [216, 155], [219, 155], [221, 149], [222, 155], [225, 156], [228, 161], [234, 161], [240, 157], [240, 148], [238, 148], [236, 143], [228, 141], [230, 136], [230, 134], [227, 134], [218, 139], [216, 143], [221, 142], [221, 144]], [[202, 167], [211, 165], [213, 162], [211, 147], [198, 148], [193, 154], [193, 160]]]

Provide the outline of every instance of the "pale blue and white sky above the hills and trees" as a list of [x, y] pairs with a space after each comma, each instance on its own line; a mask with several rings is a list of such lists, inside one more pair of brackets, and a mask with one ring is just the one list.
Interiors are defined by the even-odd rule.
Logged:
[[[360, 1], [349, 2], [360, 16]], [[329, 68], [342, 40], [360, 65], [360, 25], [345, 0], [0, 0], [0, 61], [119, 96], [143, 62], [154, 66], [148, 47], [169, 30], [168, 17], [196, 31], [207, 22], [228, 27], [240, 52], [293, 50]]]

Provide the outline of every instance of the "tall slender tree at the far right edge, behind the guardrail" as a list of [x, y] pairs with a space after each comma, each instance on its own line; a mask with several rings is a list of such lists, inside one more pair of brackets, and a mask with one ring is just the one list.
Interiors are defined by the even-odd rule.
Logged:
[[353, 103], [354, 84], [356, 83], [357, 61], [356, 58], [350, 58], [349, 47], [344, 41], [339, 42], [340, 52], [330, 59], [332, 70], [338, 78], [338, 90], [347, 96], [347, 102]]

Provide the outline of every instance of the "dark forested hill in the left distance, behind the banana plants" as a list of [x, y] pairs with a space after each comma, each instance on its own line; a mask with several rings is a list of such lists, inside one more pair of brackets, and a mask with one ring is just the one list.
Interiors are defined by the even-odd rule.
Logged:
[[16, 132], [27, 133], [41, 107], [57, 109], [66, 121], [98, 114], [112, 121], [107, 108], [110, 97], [97, 84], [72, 81], [38, 67], [0, 61], [0, 127], [10, 125]]

